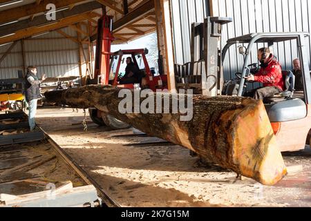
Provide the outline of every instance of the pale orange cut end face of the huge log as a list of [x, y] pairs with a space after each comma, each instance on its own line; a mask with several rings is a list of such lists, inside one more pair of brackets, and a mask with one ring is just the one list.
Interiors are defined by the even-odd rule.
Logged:
[[287, 170], [263, 102], [253, 100], [232, 128], [234, 161], [241, 174], [265, 185], [279, 182]]

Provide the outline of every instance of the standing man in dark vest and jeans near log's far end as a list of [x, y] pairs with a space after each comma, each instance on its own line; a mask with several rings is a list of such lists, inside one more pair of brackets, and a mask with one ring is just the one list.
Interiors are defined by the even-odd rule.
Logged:
[[[35, 115], [37, 113], [37, 101], [38, 99], [41, 99], [40, 94], [40, 84], [41, 81], [39, 81], [37, 77], [37, 68], [35, 66], [29, 66], [27, 68], [27, 75], [25, 77], [26, 79], [26, 102], [28, 102], [28, 108], [29, 108], [29, 116], [28, 116], [28, 122], [30, 131], [33, 131], [36, 126], [35, 122]], [[46, 75], [42, 77], [42, 81], [46, 79]]]

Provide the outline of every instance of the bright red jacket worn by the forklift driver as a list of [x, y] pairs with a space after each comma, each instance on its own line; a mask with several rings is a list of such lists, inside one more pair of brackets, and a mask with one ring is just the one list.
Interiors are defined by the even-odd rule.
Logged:
[[255, 81], [263, 83], [263, 86], [277, 86], [281, 90], [285, 89], [282, 67], [279, 61], [271, 59], [266, 68], [261, 68], [254, 76]]

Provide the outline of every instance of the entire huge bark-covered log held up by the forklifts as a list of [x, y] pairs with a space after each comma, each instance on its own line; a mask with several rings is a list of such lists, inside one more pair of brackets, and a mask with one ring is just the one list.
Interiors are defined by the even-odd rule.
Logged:
[[[262, 184], [276, 184], [287, 173], [265, 107], [259, 100], [194, 95], [193, 118], [182, 122], [180, 113], [121, 114], [118, 106], [123, 98], [118, 97], [119, 91], [112, 86], [86, 86], [52, 91], [45, 96], [48, 102], [73, 108], [95, 107], [148, 135], [185, 146], [210, 162]], [[167, 95], [161, 93], [162, 99]]]

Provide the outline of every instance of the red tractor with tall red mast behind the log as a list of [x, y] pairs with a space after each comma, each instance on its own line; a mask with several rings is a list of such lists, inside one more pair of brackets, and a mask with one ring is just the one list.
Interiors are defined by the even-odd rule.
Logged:
[[[139, 87], [150, 88], [153, 91], [157, 89], [167, 89], [167, 75], [155, 76], [151, 73], [146, 58], [146, 49], [135, 50], [119, 50], [111, 52], [111, 42], [113, 38], [113, 17], [103, 16], [98, 20], [97, 28], [97, 47], [95, 55], [95, 84], [112, 85], [121, 88], [134, 88], [137, 84], [120, 84], [123, 77], [122, 64], [126, 57], [131, 57], [135, 66], [140, 70], [140, 74], [144, 76], [143, 83], [140, 82]], [[142, 85], [143, 84], [143, 85]], [[95, 124], [100, 126], [110, 126], [113, 129], [129, 128], [129, 124], [125, 124], [111, 115], [102, 113], [95, 108], [89, 109], [91, 119]]]

